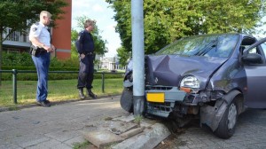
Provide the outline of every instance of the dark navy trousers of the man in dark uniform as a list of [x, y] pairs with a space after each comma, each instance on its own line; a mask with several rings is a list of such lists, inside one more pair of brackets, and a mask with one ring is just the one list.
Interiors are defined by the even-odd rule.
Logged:
[[94, 72], [94, 64], [93, 64], [93, 56], [86, 55], [85, 58], [80, 58], [80, 70], [78, 76], [78, 84], [77, 88], [87, 88], [91, 89], [93, 82], [93, 72]]

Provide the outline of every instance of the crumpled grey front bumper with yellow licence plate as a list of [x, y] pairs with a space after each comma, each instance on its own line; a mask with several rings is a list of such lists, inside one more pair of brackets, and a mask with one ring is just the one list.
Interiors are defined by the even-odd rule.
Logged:
[[[154, 95], [149, 96], [151, 94]], [[161, 96], [161, 94], [163, 94], [163, 96]], [[221, 90], [201, 90], [198, 93], [186, 93], [183, 90], [178, 90], [177, 87], [146, 86], [146, 113], [165, 118], [174, 110], [181, 115], [188, 113], [198, 114], [196, 111], [193, 111], [197, 108], [194, 109], [189, 107], [204, 106], [205, 103], [223, 98], [223, 96], [224, 93]]]

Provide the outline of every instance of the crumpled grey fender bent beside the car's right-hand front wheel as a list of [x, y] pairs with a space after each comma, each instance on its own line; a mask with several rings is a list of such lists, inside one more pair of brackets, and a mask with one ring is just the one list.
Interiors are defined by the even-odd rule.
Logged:
[[200, 124], [206, 124], [210, 129], [215, 131], [222, 120], [227, 106], [239, 94], [241, 94], [239, 90], [231, 90], [228, 94], [224, 95], [223, 98], [218, 99], [215, 103], [215, 106], [201, 106]]

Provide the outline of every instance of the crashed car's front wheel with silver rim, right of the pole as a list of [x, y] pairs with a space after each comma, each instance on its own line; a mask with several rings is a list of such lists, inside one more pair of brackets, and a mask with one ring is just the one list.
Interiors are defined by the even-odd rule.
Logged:
[[230, 138], [235, 132], [238, 115], [238, 105], [236, 100], [233, 99], [225, 110], [223, 118], [215, 130], [215, 135], [221, 138]]

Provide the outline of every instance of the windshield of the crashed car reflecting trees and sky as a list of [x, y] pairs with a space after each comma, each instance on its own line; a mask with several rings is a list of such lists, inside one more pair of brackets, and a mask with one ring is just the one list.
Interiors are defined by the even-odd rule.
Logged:
[[185, 55], [227, 58], [238, 42], [239, 35], [194, 35], [177, 40], [155, 55]]

